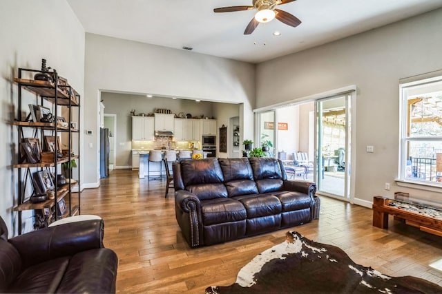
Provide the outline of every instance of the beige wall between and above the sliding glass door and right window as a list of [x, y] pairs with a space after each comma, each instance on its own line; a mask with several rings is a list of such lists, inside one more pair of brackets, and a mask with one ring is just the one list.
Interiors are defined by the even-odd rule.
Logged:
[[[442, 69], [442, 9], [257, 66], [256, 107], [357, 86], [355, 202], [409, 192], [441, 202], [441, 194], [394, 183], [398, 170], [400, 78]], [[273, 73], [278, 72], [278, 78]], [[265, 83], [271, 79], [272, 83]], [[269, 99], [271, 97], [271, 99]], [[374, 153], [365, 152], [374, 145]], [[385, 182], [392, 184], [385, 191]]]

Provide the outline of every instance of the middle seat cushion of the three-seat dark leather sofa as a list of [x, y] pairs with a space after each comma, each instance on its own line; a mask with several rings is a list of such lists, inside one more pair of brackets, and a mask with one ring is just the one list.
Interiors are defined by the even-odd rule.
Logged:
[[280, 200], [270, 194], [243, 195], [236, 196], [233, 199], [244, 205], [247, 211], [247, 219], [273, 216], [280, 214], [282, 211]]

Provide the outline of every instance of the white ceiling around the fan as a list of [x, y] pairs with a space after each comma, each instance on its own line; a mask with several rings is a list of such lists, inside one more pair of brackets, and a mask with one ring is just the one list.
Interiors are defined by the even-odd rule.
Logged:
[[[215, 13], [213, 8], [251, 6], [252, 0], [67, 0], [86, 32], [260, 63], [358, 34], [442, 7], [442, 0], [297, 0], [277, 8], [302, 23], [277, 19], [244, 29], [256, 10]], [[273, 36], [278, 30], [281, 36]]]

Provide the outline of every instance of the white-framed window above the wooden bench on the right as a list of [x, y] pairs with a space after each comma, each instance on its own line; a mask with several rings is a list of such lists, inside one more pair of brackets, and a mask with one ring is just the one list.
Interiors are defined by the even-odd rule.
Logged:
[[442, 72], [401, 83], [399, 180], [442, 187]]

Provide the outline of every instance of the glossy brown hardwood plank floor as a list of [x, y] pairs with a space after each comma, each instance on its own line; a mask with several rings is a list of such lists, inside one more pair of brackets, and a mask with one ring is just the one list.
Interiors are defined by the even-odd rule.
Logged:
[[175, 220], [173, 189], [165, 199], [165, 185], [117, 169], [98, 189], [81, 193], [81, 213], [104, 219], [104, 245], [118, 255], [117, 293], [204, 293], [207, 286], [232, 284], [242, 266], [283, 242], [289, 230], [339, 246], [354, 262], [387, 275], [414, 275], [442, 286], [442, 271], [429, 266], [442, 259], [442, 238], [392, 220], [390, 229], [378, 229], [371, 209], [326, 197], [319, 220], [190, 249]]

